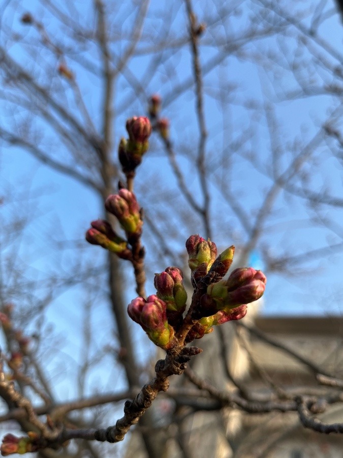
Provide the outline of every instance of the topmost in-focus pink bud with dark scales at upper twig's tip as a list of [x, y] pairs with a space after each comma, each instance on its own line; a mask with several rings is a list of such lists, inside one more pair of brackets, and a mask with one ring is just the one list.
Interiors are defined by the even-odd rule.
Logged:
[[149, 148], [148, 138], [152, 129], [149, 119], [143, 116], [128, 119], [126, 129], [129, 138], [120, 140], [118, 156], [123, 173], [130, 177], [134, 175], [136, 167], [142, 162], [143, 154]]

